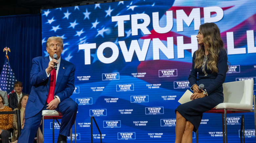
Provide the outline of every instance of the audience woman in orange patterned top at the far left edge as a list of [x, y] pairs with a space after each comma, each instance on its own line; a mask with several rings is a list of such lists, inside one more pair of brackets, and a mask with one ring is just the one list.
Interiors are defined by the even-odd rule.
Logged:
[[[5, 100], [0, 94], [0, 112], [12, 111], [10, 107], [4, 105]], [[9, 143], [9, 137], [11, 137], [11, 132], [9, 129], [12, 128], [13, 114], [0, 114], [0, 138], [2, 143]]]

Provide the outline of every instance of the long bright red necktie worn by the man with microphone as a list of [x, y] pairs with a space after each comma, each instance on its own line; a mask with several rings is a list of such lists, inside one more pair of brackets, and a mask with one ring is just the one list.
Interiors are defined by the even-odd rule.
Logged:
[[48, 97], [46, 99], [46, 102], [49, 104], [54, 99], [54, 89], [56, 84], [56, 70], [51, 71], [51, 82], [50, 82], [50, 89], [48, 93]]

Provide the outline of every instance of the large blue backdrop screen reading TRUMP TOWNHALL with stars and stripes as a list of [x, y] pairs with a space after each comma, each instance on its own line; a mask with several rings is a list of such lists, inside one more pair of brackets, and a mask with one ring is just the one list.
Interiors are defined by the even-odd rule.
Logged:
[[[255, 6], [232, 0], [132, 0], [42, 10], [43, 56], [48, 56], [47, 38], [60, 36], [61, 57], [76, 66], [73, 139], [91, 141], [94, 116], [103, 142], [174, 142], [174, 110], [190, 88], [200, 24], [214, 22], [221, 30], [231, 63], [225, 82], [256, 81]], [[240, 142], [241, 115], [228, 115], [230, 142]], [[244, 115], [246, 141], [253, 142], [253, 114]], [[93, 138], [99, 142], [93, 126]], [[50, 128], [51, 121], [46, 122], [49, 142]], [[221, 115], [204, 114], [199, 136], [201, 142], [222, 142]]]

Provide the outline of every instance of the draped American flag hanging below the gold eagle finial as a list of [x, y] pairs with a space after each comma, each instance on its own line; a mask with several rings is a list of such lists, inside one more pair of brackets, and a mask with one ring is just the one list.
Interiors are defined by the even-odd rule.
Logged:
[[5, 63], [1, 72], [1, 76], [0, 76], [0, 90], [2, 91], [6, 91], [8, 93], [8, 95], [10, 93], [14, 92], [14, 83], [15, 83], [16, 78], [14, 76], [14, 73], [11, 69], [9, 60], [5, 59]]

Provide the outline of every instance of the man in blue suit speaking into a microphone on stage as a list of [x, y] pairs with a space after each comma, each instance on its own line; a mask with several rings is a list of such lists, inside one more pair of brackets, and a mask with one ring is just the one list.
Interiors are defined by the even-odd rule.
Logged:
[[[63, 51], [61, 37], [50, 37], [46, 42], [46, 50], [49, 56], [32, 59], [30, 73], [32, 89], [25, 110], [25, 125], [18, 143], [33, 142], [41, 123], [42, 110], [57, 110], [63, 115], [57, 143], [66, 143], [66, 138], [70, 135], [70, 129], [75, 122], [78, 105], [70, 98], [75, 89], [75, 65], [60, 57]], [[57, 55], [57, 60], [53, 58], [54, 54]], [[57, 63], [54, 99], [47, 103], [54, 63]]]

